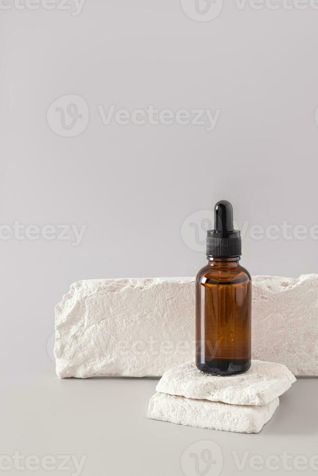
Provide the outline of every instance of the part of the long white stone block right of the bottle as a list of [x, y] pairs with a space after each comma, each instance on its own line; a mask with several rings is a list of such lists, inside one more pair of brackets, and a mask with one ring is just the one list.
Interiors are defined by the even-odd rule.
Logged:
[[318, 274], [254, 276], [252, 357], [318, 375]]

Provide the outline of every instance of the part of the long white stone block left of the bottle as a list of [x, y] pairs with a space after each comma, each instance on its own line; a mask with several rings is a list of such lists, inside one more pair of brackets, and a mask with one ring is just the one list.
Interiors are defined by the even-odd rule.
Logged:
[[73, 284], [55, 307], [54, 354], [60, 377], [161, 376], [194, 357], [193, 278]]

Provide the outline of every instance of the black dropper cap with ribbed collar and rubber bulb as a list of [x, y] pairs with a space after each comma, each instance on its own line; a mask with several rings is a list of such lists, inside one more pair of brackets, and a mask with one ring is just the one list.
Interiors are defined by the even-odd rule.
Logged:
[[242, 255], [240, 230], [233, 230], [233, 207], [227, 200], [214, 206], [214, 230], [208, 230], [207, 256], [234, 258]]

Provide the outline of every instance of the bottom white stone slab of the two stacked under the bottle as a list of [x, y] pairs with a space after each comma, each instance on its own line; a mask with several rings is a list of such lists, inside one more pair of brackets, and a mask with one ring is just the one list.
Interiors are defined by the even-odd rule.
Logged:
[[150, 399], [148, 418], [178, 425], [199, 426], [238, 433], [258, 433], [279, 406], [279, 398], [268, 405], [246, 406], [192, 400], [155, 393]]

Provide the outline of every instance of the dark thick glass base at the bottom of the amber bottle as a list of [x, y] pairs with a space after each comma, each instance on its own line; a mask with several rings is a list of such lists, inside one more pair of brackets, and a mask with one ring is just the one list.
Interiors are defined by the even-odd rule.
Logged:
[[246, 359], [212, 358], [204, 363], [196, 361], [196, 367], [205, 374], [210, 375], [235, 375], [243, 374], [250, 368], [251, 361]]

